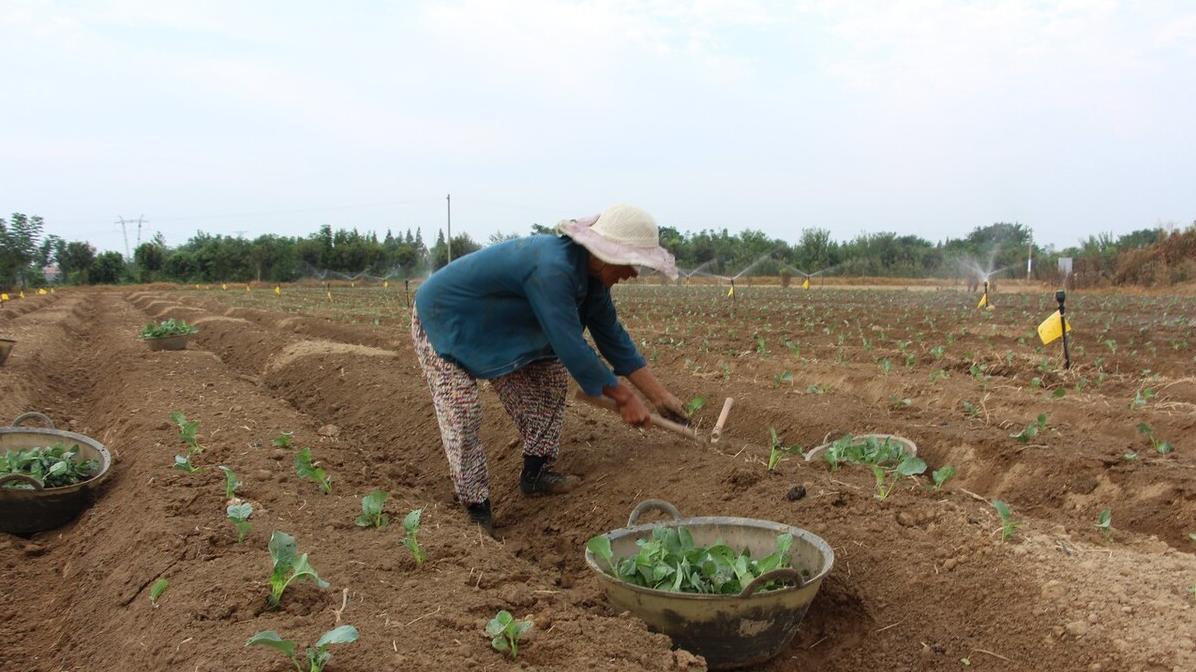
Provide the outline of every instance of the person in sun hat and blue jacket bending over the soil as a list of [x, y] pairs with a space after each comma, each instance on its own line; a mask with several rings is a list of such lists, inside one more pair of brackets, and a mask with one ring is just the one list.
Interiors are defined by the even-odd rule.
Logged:
[[[490, 381], [523, 436], [525, 495], [575, 485], [574, 477], [551, 469], [561, 447], [566, 373], [585, 393], [615, 399], [630, 424], [647, 424], [648, 410], [616, 375], [627, 377], [661, 415], [685, 417], [618, 323], [610, 298], [616, 282], [637, 275], [633, 264], [677, 277], [652, 215], [612, 206], [597, 218], [562, 221], [557, 231], [562, 236], [508, 240], [460, 257], [415, 293], [411, 340], [457, 499], [487, 531], [493, 519], [477, 379]], [[586, 329], [614, 372], [590, 348]]]

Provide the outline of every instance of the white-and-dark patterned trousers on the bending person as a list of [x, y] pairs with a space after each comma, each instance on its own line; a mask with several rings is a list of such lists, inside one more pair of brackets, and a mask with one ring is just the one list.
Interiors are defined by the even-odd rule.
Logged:
[[[432, 349], [415, 311], [411, 311], [411, 341], [423, 368], [423, 379], [432, 390], [432, 405], [437, 409], [440, 439], [457, 499], [465, 505], [482, 502], [490, 496], [490, 478], [486, 451], [478, 436], [482, 399], [477, 379]], [[547, 457], [549, 462], [556, 459], [565, 426], [568, 383], [568, 373], [559, 359], [536, 361], [490, 380], [490, 386], [523, 436], [525, 456]]]

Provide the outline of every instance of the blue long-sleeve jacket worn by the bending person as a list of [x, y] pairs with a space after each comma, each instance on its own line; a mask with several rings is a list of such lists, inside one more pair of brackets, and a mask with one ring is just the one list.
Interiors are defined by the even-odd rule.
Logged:
[[[610, 291], [586, 273], [590, 252], [566, 237], [492, 245], [441, 268], [415, 293], [432, 348], [475, 378], [560, 358], [587, 395], [643, 366]], [[614, 366], [598, 359], [582, 332]]]

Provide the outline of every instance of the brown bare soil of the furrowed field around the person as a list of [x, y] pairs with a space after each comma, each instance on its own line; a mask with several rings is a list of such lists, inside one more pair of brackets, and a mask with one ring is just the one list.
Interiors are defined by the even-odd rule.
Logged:
[[[700, 428], [736, 399], [725, 439], [696, 445], [572, 405], [560, 464], [581, 487], [525, 499], [517, 433], [483, 386], [499, 539], [453, 502], [402, 282], [6, 305], [0, 336], [19, 342], [0, 367], [0, 419], [47, 413], [116, 462], [74, 523], [0, 534], [0, 670], [281, 672], [292, 667], [277, 653], [244, 648], [250, 635], [306, 644], [338, 623], [361, 639], [334, 649], [334, 672], [701, 670], [611, 610], [584, 562], [586, 539], [648, 497], [797, 525], [835, 549], [798, 636], [761, 670], [1196, 670], [1192, 297], [1076, 293], [1069, 371], [1035, 334], [1055, 310], [1045, 292], [996, 294], [987, 312], [956, 291], [797, 286], [733, 298], [629, 286], [616, 303], [658, 375], [706, 399]], [[138, 329], [167, 317], [200, 332], [187, 350], [148, 352]], [[185, 452], [175, 410], [200, 423], [195, 474], [173, 468]], [[899, 434], [957, 475], [941, 490], [908, 478], [880, 500], [865, 468], [793, 454], [769, 472], [770, 427], [806, 450]], [[295, 476], [294, 448], [271, 444], [282, 432], [332, 475], [331, 494]], [[244, 543], [218, 465], [254, 503]], [[374, 488], [391, 494], [392, 519], [425, 509], [427, 562], [401, 526], [354, 524]], [[1023, 524], [1009, 540], [994, 499]], [[1107, 536], [1094, 526], [1106, 508]], [[329, 588], [299, 584], [267, 607], [274, 530]], [[159, 578], [170, 587], [155, 607]], [[535, 622], [514, 662], [482, 633], [500, 609]]]

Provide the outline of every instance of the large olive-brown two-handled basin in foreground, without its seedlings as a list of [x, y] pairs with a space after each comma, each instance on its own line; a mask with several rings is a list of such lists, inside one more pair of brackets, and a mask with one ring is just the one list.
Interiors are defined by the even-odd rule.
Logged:
[[[661, 511], [671, 521], [637, 525], [646, 511]], [[673, 643], [706, 658], [710, 670], [756, 665], [780, 654], [793, 640], [798, 625], [823, 579], [835, 564], [835, 554], [822, 538], [789, 525], [751, 518], [684, 518], [671, 503], [641, 502], [627, 527], [604, 534], [615, 558], [635, 556], [636, 542], [652, 538], [654, 529], [685, 527], [696, 545], [725, 543], [746, 549], [752, 558], [774, 551], [777, 536], [792, 534], [791, 567], [759, 575], [737, 594], [681, 593], [646, 588], [611, 575], [587, 549], [586, 564], [598, 573], [606, 599], [616, 611], [630, 611], [652, 630], [672, 637]], [[781, 587], [776, 587], [777, 585]], [[786, 585], [787, 584], [787, 585]], [[773, 589], [765, 589], [773, 588]]]

